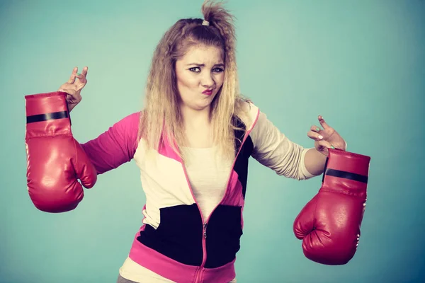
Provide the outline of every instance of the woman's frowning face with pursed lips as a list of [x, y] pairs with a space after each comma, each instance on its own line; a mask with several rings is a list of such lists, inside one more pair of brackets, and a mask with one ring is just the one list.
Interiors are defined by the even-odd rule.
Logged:
[[176, 61], [177, 88], [181, 107], [209, 110], [225, 78], [222, 50], [196, 45]]

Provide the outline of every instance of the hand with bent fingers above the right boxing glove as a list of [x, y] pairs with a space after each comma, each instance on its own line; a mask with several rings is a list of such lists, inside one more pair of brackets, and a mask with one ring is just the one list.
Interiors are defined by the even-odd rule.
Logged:
[[322, 116], [318, 117], [320, 125], [323, 129], [316, 125], [310, 127], [310, 131], [307, 133], [307, 136], [310, 139], [314, 140], [314, 147], [324, 156], [328, 156], [328, 149], [341, 149], [346, 150], [347, 144], [346, 141], [336, 132], [332, 127], [329, 127]]

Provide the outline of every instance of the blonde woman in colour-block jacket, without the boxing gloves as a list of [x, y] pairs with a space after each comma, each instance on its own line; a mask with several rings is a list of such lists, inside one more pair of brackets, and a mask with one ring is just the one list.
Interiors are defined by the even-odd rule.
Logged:
[[[319, 116], [304, 149], [239, 96], [232, 16], [205, 1], [204, 19], [177, 21], [162, 37], [145, 108], [82, 144], [98, 174], [135, 159], [146, 205], [118, 282], [236, 282], [249, 156], [278, 175], [323, 173], [328, 148], [346, 150]], [[87, 67], [60, 87], [69, 110]]]

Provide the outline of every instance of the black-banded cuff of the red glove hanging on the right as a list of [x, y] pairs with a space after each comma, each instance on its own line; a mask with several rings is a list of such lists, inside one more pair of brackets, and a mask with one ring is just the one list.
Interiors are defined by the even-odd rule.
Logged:
[[365, 197], [369, 163], [369, 156], [329, 149], [320, 190]]

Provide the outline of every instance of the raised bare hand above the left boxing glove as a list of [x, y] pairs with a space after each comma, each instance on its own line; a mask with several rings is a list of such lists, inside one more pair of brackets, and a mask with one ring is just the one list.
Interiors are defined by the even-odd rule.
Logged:
[[89, 68], [84, 67], [81, 74], [78, 74], [78, 68], [75, 67], [72, 70], [72, 74], [69, 77], [69, 80], [60, 86], [58, 91], [62, 91], [67, 93], [67, 103], [69, 112], [77, 106], [77, 104], [81, 101], [81, 90], [86, 86], [87, 83], [87, 71]]

